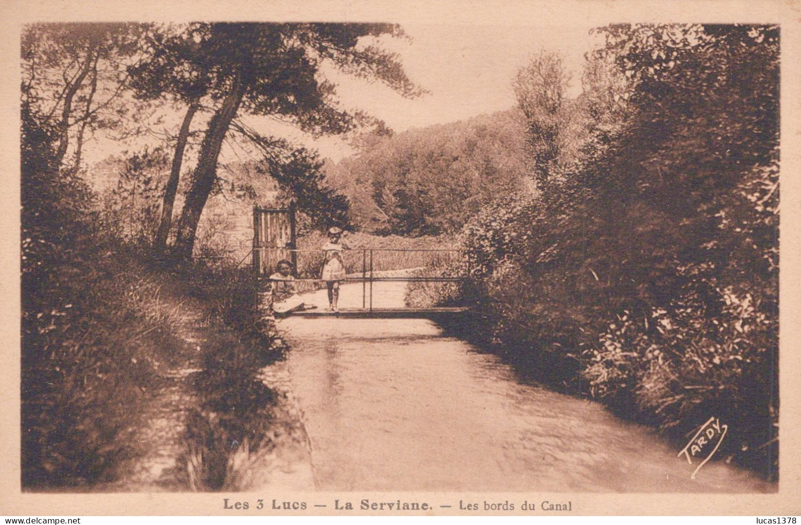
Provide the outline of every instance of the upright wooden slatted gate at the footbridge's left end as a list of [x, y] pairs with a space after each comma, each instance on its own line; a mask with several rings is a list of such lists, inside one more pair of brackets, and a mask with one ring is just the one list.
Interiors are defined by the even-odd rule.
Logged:
[[276, 262], [287, 259], [297, 267], [295, 203], [286, 209], [253, 206], [253, 269], [256, 275], [272, 275]]

